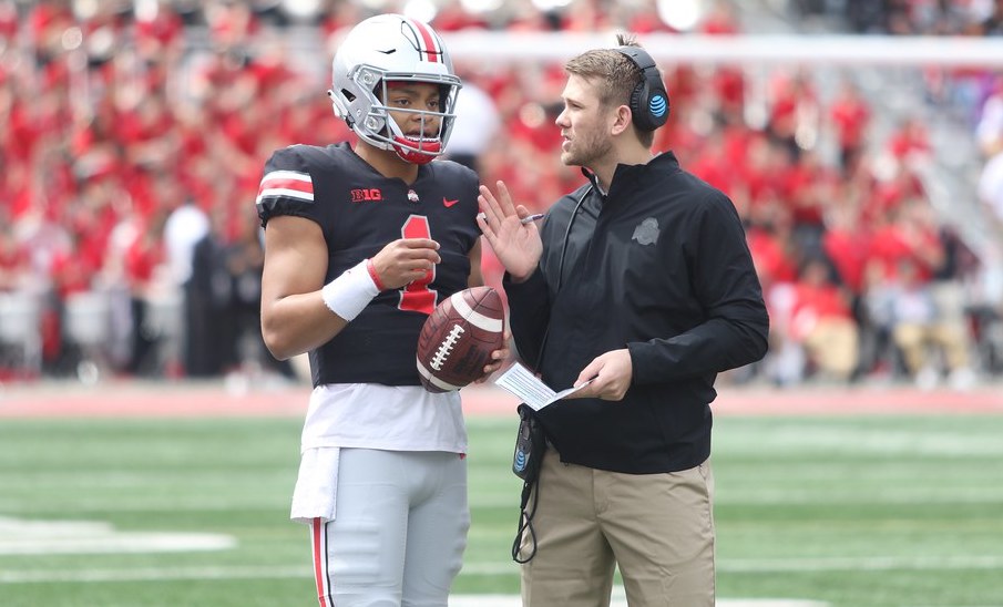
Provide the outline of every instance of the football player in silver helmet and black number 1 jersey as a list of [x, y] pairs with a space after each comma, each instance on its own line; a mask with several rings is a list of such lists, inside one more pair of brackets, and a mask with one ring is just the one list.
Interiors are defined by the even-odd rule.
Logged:
[[460, 570], [460, 398], [427, 392], [414, 359], [436, 305], [482, 284], [478, 177], [431, 162], [459, 89], [431, 28], [367, 19], [332, 65], [355, 147], [294, 145], [265, 166], [262, 331], [279, 359], [310, 353], [291, 516], [310, 525], [321, 607], [446, 607]]

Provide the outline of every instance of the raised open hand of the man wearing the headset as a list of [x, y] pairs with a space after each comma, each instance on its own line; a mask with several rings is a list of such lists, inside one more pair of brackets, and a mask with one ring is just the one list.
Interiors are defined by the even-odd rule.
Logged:
[[523, 217], [529, 217], [530, 210], [512, 203], [509, 188], [502, 181], [498, 182], [498, 196], [482, 185], [478, 204], [481, 207], [478, 226], [494, 255], [516, 282], [525, 280], [536, 270], [543, 253], [535, 223], [521, 222]]

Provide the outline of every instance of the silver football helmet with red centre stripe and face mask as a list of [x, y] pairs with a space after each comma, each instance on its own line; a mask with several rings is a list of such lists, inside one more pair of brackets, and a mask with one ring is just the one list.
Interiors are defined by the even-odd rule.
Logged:
[[[395, 109], [421, 115], [420, 136], [406, 134], [388, 113], [383, 100], [388, 99], [388, 84], [395, 81], [430, 82], [440, 88], [439, 112]], [[360, 22], [335, 53], [331, 83], [328, 94], [335, 113], [367, 143], [393, 150], [413, 164], [426, 164], [443, 153], [461, 84], [442, 39], [428, 24], [401, 14]]]

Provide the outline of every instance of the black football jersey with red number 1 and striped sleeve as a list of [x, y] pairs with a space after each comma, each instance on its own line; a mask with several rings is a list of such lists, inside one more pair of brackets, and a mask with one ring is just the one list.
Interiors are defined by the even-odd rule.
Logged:
[[398, 238], [431, 238], [441, 263], [426, 279], [378, 295], [329, 342], [310, 352], [314, 385], [419, 384], [418, 333], [434, 307], [465, 289], [470, 250], [480, 236], [477, 174], [450, 161], [421, 165], [408, 185], [388, 178], [347, 143], [294, 145], [265, 165], [258, 216], [295, 215], [316, 222], [327, 240], [332, 280]]

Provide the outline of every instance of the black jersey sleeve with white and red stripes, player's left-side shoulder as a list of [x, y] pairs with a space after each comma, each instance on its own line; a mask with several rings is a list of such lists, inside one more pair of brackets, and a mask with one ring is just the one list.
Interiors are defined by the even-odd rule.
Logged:
[[265, 163], [255, 206], [262, 227], [267, 226], [268, 219], [279, 215], [317, 220], [314, 179], [295, 146], [276, 151]]

